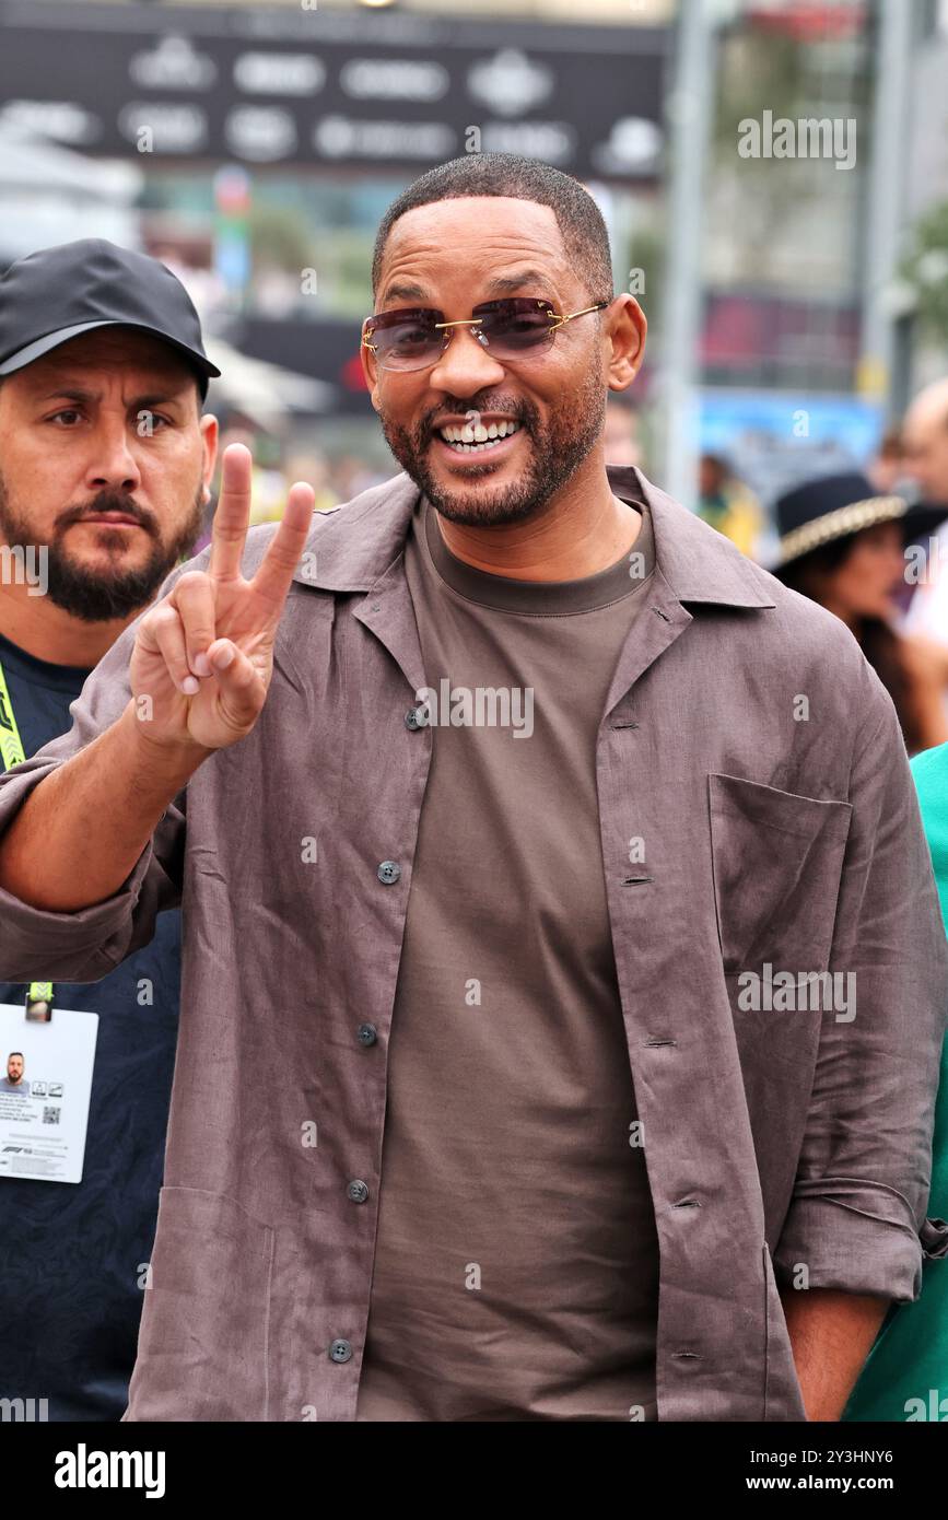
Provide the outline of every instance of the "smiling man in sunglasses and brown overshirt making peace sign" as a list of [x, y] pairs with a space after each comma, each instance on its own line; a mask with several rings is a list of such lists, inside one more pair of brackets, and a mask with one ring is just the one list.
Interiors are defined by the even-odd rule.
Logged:
[[[128, 1418], [836, 1420], [948, 1237], [892, 702], [606, 462], [646, 322], [574, 179], [433, 169], [372, 287], [403, 473], [248, 532], [228, 450], [210, 550], [0, 778], [0, 970], [184, 900]], [[855, 1014], [754, 1011], [770, 968]]]

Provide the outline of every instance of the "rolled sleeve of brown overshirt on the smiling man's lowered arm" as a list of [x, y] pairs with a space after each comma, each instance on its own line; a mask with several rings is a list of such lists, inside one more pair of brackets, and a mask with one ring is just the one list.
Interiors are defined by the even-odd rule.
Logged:
[[781, 1286], [910, 1303], [948, 1225], [927, 1221], [948, 1014], [948, 945], [889, 693], [864, 664], [831, 971], [855, 1014], [823, 1014], [793, 1196], [773, 1257]]

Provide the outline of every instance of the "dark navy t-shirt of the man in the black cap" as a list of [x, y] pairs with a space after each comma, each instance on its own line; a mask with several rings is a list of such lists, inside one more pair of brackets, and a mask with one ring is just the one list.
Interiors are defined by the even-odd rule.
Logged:
[[[90, 672], [35, 660], [3, 635], [0, 663], [32, 755], [68, 733], [70, 702]], [[179, 993], [176, 910], [160, 914], [152, 942], [100, 982], [53, 985], [53, 1018], [67, 1008], [99, 1014], [82, 1181], [0, 1180], [0, 1398], [47, 1398], [50, 1420], [120, 1420], [126, 1408]], [[24, 999], [26, 983], [0, 982], [2, 1003]]]

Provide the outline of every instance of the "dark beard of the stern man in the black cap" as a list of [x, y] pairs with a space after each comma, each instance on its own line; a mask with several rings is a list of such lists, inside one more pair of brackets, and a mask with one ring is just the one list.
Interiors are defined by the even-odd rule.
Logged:
[[[126, 512], [150, 535], [152, 552], [138, 568], [91, 570], [64, 547], [64, 537], [71, 523], [96, 512]], [[153, 600], [166, 575], [178, 561], [190, 555], [204, 526], [204, 485], [198, 485], [191, 512], [178, 534], [167, 543], [160, 538], [153, 512], [143, 512], [131, 496], [123, 491], [99, 491], [93, 502], [81, 508], [68, 508], [56, 523], [46, 546], [46, 594], [70, 617], [84, 623], [106, 623], [115, 617], [128, 617]], [[6, 482], [0, 476], [0, 534], [12, 547], [33, 543], [33, 530], [26, 517], [11, 506]], [[109, 530], [100, 524], [100, 543], [106, 547], [125, 549], [128, 529]]]

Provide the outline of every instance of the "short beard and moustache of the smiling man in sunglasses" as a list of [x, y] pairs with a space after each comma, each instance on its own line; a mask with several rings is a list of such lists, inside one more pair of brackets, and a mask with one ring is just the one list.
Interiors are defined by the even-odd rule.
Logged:
[[[445, 412], [465, 415], [468, 412], [497, 413], [512, 416], [521, 424], [526, 433], [524, 442], [530, 448], [529, 464], [524, 474], [510, 485], [489, 488], [459, 486], [454, 492], [444, 489], [434, 479], [428, 465], [428, 447], [438, 432], [431, 423]], [[542, 511], [545, 503], [570, 480], [583, 462], [592, 445], [597, 442], [606, 416], [606, 391], [602, 377], [589, 371], [583, 389], [576, 395], [564, 398], [550, 409], [545, 430], [541, 433], [536, 407], [520, 400], [517, 410], [504, 407], [503, 401], [483, 400], [457, 401], [445, 397], [436, 412], [419, 424], [415, 438], [404, 427], [397, 427], [380, 412], [381, 429], [386, 442], [401, 468], [412, 477], [415, 485], [427, 496], [442, 517], [451, 523], [462, 523], [465, 527], [495, 527], [501, 523], [521, 523]], [[465, 456], [474, 461], [477, 470], [477, 454]], [[485, 462], [480, 476], [494, 473]], [[477, 474], [466, 477], [471, 482]]]

